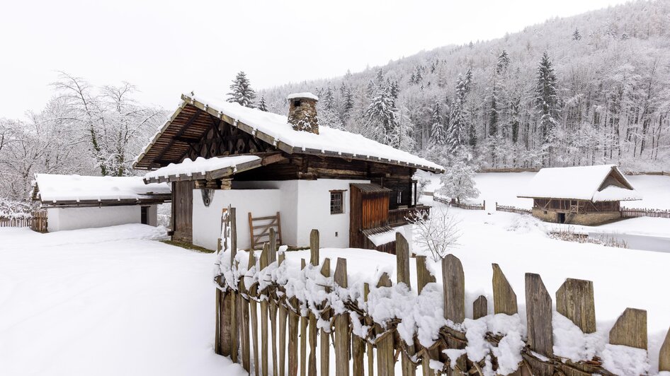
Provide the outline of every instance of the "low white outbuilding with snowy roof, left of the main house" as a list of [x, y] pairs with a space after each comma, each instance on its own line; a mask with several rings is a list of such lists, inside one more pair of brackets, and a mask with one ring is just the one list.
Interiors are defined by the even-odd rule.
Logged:
[[35, 174], [33, 200], [47, 212], [47, 230], [76, 230], [126, 223], [157, 225], [157, 206], [170, 186], [142, 177]]

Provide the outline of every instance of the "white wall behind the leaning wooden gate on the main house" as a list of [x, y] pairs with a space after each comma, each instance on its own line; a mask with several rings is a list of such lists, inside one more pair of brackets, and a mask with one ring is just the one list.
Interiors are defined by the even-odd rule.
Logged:
[[[228, 205], [234, 206], [237, 211], [237, 247], [240, 249], [251, 247], [249, 212], [254, 217], [264, 217], [274, 216], [280, 211], [279, 189], [215, 189], [210, 206], [203, 204], [200, 190], [193, 190], [193, 244], [207, 249], [217, 247], [222, 209]], [[282, 221], [282, 233], [283, 226]]]

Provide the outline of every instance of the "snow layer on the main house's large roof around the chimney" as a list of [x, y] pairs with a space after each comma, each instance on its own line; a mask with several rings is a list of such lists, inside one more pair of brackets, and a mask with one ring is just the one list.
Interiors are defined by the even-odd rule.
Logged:
[[[300, 95], [305, 94], [301, 93]], [[366, 139], [360, 134], [353, 134], [348, 131], [341, 131], [329, 127], [319, 127], [319, 134], [311, 132], [296, 131], [293, 126], [288, 123], [287, 117], [280, 114], [273, 114], [272, 112], [264, 112], [255, 108], [241, 106], [237, 103], [226, 102], [225, 100], [212, 100], [210, 98], [203, 98], [193, 94], [183, 94], [183, 105], [200, 102], [206, 109], [215, 110], [219, 114], [225, 114], [227, 117], [234, 119], [234, 122], [242, 122], [256, 131], [261, 131], [268, 136], [271, 136], [276, 144], [282, 142], [292, 148], [305, 151], [312, 149], [321, 151], [321, 153], [336, 153], [338, 155], [346, 155], [347, 157], [355, 159], [370, 159], [377, 160], [382, 163], [397, 163], [400, 165], [413, 165], [416, 168], [424, 168], [428, 170], [443, 171], [441, 165], [433, 163], [424, 158], [418, 157], [407, 151], [401, 151], [397, 148], [384, 145], [377, 141]], [[182, 107], [180, 106], [180, 107]], [[154, 135], [154, 139], [149, 145], [144, 148], [144, 151], [135, 158], [137, 163], [153, 143], [159, 138], [169, 122], [166, 123]]]

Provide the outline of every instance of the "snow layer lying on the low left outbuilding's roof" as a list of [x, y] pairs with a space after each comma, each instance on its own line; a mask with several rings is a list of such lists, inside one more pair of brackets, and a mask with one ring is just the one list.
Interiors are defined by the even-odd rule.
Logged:
[[43, 203], [151, 199], [170, 194], [165, 183], [144, 184], [142, 177], [35, 174], [37, 196]]

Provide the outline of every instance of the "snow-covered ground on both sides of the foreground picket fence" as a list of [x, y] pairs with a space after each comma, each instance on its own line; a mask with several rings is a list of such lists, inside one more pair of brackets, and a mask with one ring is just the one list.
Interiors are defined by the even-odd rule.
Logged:
[[[555, 332], [569, 340], [557, 341], [555, 351], [602, 355], [618, 315], [642, 308], [655, 373], [670, 326], [670, 302], [658, 295], [667, 285], [670, 253], [562, 242], [530, 216], [449, 210], [460, 220], [453, 253], [465, 269], [467, 317], [480, 294], [492, 311], [492, 262], [516, 291], [522, 323], [526, 272], [540, 274], [552, 295], [564, 278], [589, 279], [598, 332], [587, 342]], [[144, 225], [50, 234], [2, 228], [0, 237], [0, 375], [244, 375], [212, 351], [213, 254], [157, 242], [164, 230]], [[375, 282], [382, 271], [396, 278], [390, 254], [322, 249], [321, 257], [346, 257], [350, 286]], [[307, 251], [288, 252], [288, 265], [297, 269], [302, 258], [309, 259]], [[439, 281], [438, 264], [429, 266]], [[441, 317], [441, 302], [430, 312]]]

